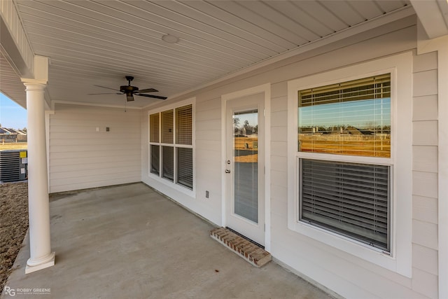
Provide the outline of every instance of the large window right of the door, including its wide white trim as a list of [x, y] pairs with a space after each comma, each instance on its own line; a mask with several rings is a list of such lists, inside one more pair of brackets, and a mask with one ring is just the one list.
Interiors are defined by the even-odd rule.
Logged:
[[409, 186], [411, 52], [288, 82], [288, 229], [411, 277]]

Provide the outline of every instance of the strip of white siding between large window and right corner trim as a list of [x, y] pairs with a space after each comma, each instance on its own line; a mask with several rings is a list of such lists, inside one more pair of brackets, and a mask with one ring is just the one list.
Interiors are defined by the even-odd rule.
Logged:
[[413, 71], [412, 288], [428, 298], [437, 298], [440, 297], [437, 294], [440, 252], [437, 53], [414, 56]]

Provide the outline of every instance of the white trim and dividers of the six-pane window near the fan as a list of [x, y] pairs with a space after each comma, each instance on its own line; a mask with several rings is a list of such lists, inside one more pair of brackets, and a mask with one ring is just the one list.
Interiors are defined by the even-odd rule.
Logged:
[[[167, 106], [162, 106], [157, 109], [149, 110], [146, 117], [148, 118], [148, 128], [149, 128], [149, 125], [150, 125], [149, 117], [151, 116], [151, 114], [160, 113], [162, 111], [167, 111], [167, 110], [171, 110], [171, 109], [173, 109], [175, 112], [176, 108], [180, 108], [180, 107], [187, 106], [187, 105], [192, 105], [192, 122], [193, 122], [193, 124], [192, 124], [192, 130], [193, 130], [192, 145], [191, 146], [183, 146], [182, 144], [177, 144], [176, 146], [174, 146], [174, 143], [173, 144], [157, 143], [157, 145], [158, 146], [172, 146], [174, 148], [178, 148], [178, 147], [193, 148], [193, 190], [190, 190], [189, 188], [176, 183], [175, 177], [174, 177], [174, 181], [169, 181], [167, 179], [164, 179], [162, 176], [153, 174], [151, 172], [151, 145], [156, 144], [156, 143], [153, 143], [150, 141], [151, 140], [151, 137], [150, 137], [151, 130], [148, 130], [148, 169], [147, 169], [147, 174], [148, 174], [149, 178], [151, 178], [155, 181], [158, 181], [160, 183], [163, 183], [164, 185], [168, 186], [169, 188], [173, 188], [174, 190], [177, 190], [181, 193], [184, 193], [190, 197], [195, 198], [196, 197], [196, 175], [195, 175], [196, 174], [196, 169], [195, 169], [196, 168], [196, 155], [195, 155], [195, 148], [196, 148], [196, 138], [195, 138], [196, 98], [193, 97], [193, 98], [181, 101], [181, 102], [176, 102], [174, 104], [169, 104]], [[174, 116], [174, 125], [176, 125], [175, 118], [176, 118], [176, 116]], [[173, 140], [173, 142], [174, 142], [174, 140]], [[174, 163], [176, 163], [176, 151], [174, 151]], [[176, 165], [174, 165], [174, 168], [176, 168]], [[176, 176], [176, 171], [174, 171], [174, 176]]]

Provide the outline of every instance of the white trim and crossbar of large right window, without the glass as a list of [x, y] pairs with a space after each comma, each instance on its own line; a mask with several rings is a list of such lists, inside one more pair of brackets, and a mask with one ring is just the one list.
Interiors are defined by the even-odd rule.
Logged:
[[[391, 158], [297, 152], [297, 91], [391, 73]], [[399, 153], [399, 154], [398, 154]], [[391, 167], [391, 253], [298, 220], [298, 157], [370, 162]], [[373, 162], [374, 161], [374, 162]], [[412, 52], [288, 82], [288, 228], [393, 272], [412, 277]]]

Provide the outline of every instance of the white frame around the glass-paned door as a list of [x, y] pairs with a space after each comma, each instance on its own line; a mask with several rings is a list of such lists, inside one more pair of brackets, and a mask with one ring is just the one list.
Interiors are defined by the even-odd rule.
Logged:
[[[237, 99], [239, 97], [246, 97], [249, 95], [255, 95], [258, 93], [264, 93], [265, 95], [265, 250], [271, 249], [271, 84], [266, 83], [258, 85], [253, 88], [247, 88], [245, 90], [238, 90], [221, 96], [221, 225], [225, 227], [226, 223], [226, 197], [227, 188], [225, 186], [225, 167], [226, 167], [226, 104], [231, 99]], [[259, 111], [263, 113], [263, 111]]]

